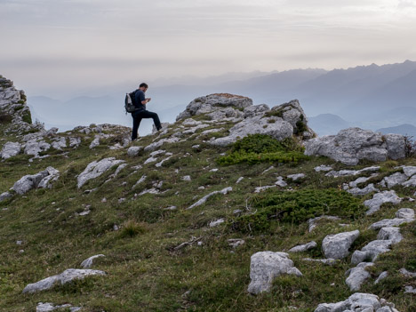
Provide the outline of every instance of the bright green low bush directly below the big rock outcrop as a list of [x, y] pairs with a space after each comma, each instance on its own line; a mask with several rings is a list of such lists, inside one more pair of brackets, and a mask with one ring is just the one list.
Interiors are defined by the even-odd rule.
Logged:
[[221, 156], [218, 164], [257, 164], [262, 162], [298, 163], [308, 159], [303, 154], [303, 148], [293, 140], [287, 138], [281, 141], [265, 134], [250, 134], [234, 143], [228, 155]]

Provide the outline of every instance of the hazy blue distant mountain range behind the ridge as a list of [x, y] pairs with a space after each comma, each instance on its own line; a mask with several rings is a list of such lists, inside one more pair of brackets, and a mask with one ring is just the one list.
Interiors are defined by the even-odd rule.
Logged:
[[[415, 123], [415, 85], [416, 62], [411, 60], [331, 71], [308, 68], [205, 78], [183, 76], [150, 84], [148, 95], [153, 100], [148, 109], [159, 113], [163, 121], [172, 122], [196, 97], [228, 92], [270, 107], [298, 99], [307, 116], [316, 116], [309, 119], [313, 129], [319, 127], [318, 133], [333, 133], [347, 125], [377, 130]], [[28, 105], [40, 121], [51, 126], [65, 125], [69, 129], [92, 122], [131, 125], [131, 117], [124, 115], [124, 95], [135, 87], [133, 83], [103, 86], [84, 90], [86, 96], [72, 100], [29, 96]], [[142, 133], [147, 132], [151, 123], [144, 122], [140, 128]]]

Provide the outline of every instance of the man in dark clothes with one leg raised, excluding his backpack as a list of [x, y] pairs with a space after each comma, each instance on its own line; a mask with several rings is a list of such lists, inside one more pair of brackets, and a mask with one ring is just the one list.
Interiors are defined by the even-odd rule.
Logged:
[[146, 109], [146, 104], [151, 98], [146, 99], [145, 93], [148, 91], [148, 84], [142, 83], [139, 86], [139, 89], [134, 92], [134, 98], [135, 103], [134, 106], [137, 108], [137, 110], [132, 112], [132, 118], [133, 118], [133, 126], [132, 126], [132, 140], [137, 139], [137, 131], [139, 130], [141, 119], [143, 118], [153, 118], [153, 122], [155, 123], [157, 131], [159, 131], [162, 128], [162, 125], [160, 124], [159, 116], [157, 116], [156, 113], [149, 112]]

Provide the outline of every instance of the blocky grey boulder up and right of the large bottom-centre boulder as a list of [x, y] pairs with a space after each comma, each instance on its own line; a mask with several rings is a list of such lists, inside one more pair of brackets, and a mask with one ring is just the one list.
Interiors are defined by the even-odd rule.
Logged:
[[325, 258], [343, 259], [348, 256], [348, 249], [360, 235], [360, 231], [344, 232], [325, 236], [322, 251]]

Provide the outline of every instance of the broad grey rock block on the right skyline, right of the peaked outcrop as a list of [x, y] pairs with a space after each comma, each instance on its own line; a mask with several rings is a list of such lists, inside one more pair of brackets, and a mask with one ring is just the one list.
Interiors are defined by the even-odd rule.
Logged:
[[348, 165], [356, 165], [364, 159], [380, 162], [405, 156], [403, 135], [383, 135], [360, 128], [348, 128], [337, 135], [308, 140], [305, 148], [308, 156], [327, 156]]

